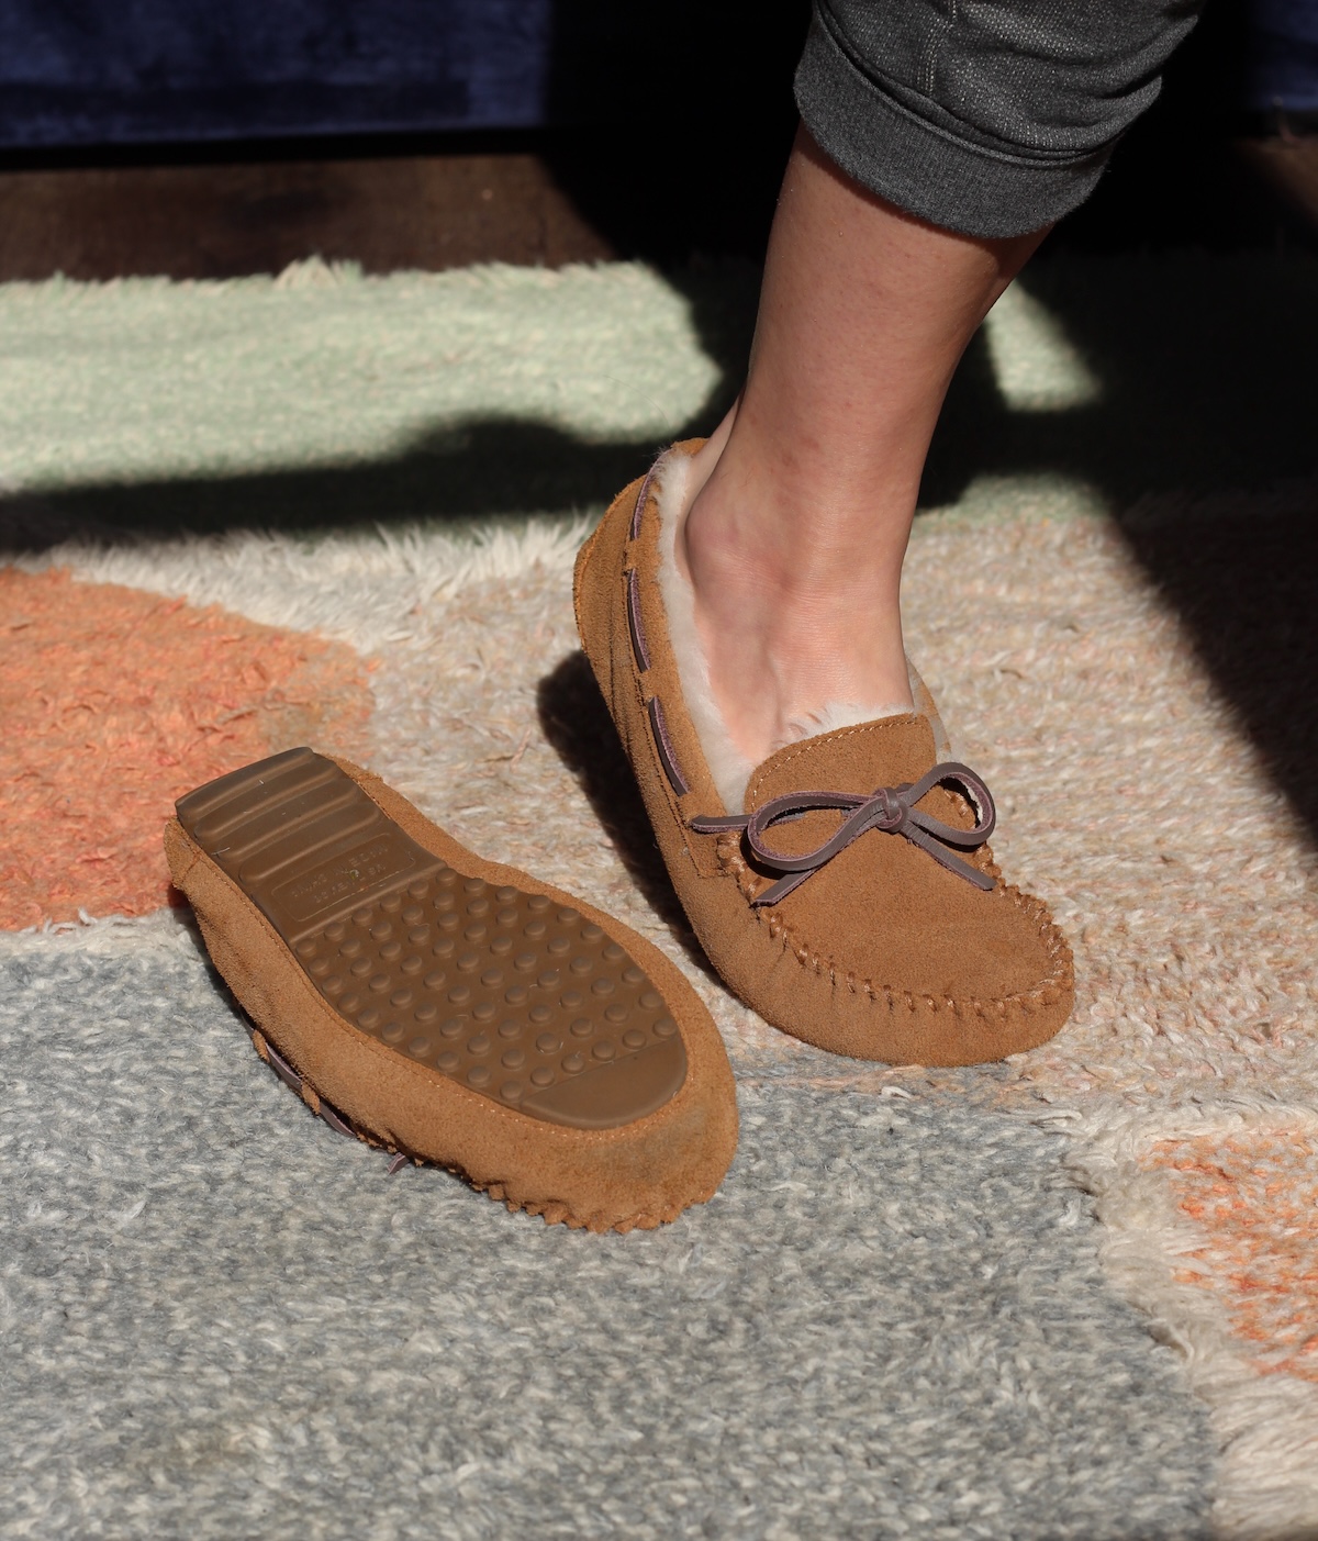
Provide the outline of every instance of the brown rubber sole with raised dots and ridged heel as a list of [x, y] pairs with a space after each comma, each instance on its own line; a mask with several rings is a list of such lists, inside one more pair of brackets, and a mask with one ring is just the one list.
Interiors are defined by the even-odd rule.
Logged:
[[339, 1017], [401, 1059], [572, 1128], [632, 1123], [686, 1079], [681, 1032], [623, 946], [441, 861], [311, 749], [210, 781], [177, 814]]

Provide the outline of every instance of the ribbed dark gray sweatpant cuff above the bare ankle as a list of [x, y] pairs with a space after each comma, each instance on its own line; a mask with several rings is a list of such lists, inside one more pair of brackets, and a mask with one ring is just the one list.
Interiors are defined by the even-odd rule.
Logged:
[[1061, 219], [1094, 190], [1113, 148], [1067, 160], [959, 139], [883, 91], [819, 15], [795, 92], [802, 120], [836, 165], [889, 203], [965, 236], [1024, 236]]

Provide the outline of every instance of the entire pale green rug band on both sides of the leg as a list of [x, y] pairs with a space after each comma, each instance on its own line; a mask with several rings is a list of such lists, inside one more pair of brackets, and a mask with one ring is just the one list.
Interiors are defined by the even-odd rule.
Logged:
[[[630, 264], [0, 287], [0, 535], [598, 510], [735, 391], [758, 274]], [[1318, 264], [1039, 260], [923, 502], [999, 518], [1312, 476]]]

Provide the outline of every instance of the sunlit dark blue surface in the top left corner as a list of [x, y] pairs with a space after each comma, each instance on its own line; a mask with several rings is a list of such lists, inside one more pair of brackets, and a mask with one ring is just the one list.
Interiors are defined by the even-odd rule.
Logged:
[[0, 0], [0, 145], [527, 126], [550, 46], [552, 0]]

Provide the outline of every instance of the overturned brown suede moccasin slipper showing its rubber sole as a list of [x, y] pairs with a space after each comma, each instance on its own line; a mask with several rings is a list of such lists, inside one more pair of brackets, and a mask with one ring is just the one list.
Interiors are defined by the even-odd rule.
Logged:
[[313, 1111], [510, 1210], [654, 1227], [718, 1187], [732, 1073], [649, 942], [472, 855], [379, 777], [291, 749], [180, 798], [174, 883]]

